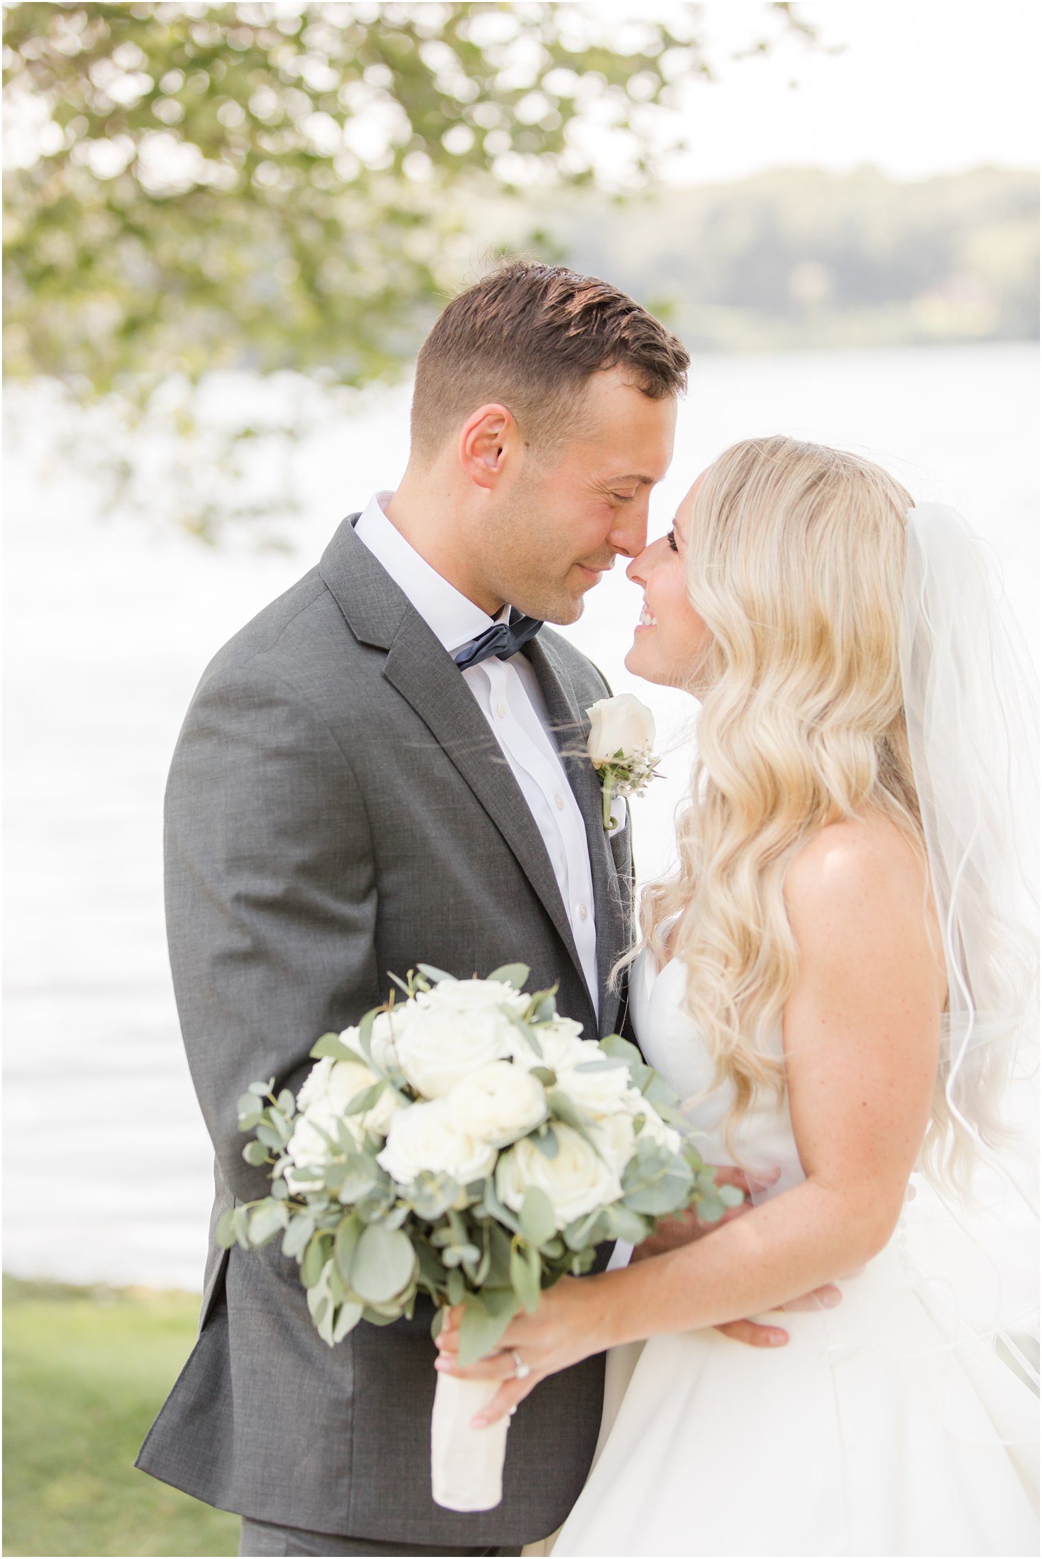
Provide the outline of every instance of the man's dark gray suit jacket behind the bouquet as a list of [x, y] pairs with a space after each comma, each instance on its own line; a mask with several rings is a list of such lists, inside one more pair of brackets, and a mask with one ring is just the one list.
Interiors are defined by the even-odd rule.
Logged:
[[[184, 1045], [215, 1146], [214, 1222], [265, 1193], [236, 1101], [296, 1088], [314, 1040], [387, 998], [387, 971], [459, 976], [519, 960], [529, 988], [610, 1032], [607, 988], [632, 914], [629, 828], [608, 840], [583, 708], [608, 691], [565, 639], [526, 652], [587, 823], [594, 1013], [540, 831], [449, 655], [345, 521], [321, 563], [203, 675], [167, 790], [167, 921]], [[211, 1238], [197, 1347], [137, 1465], [254, 1520], [409, 1545], [537, 1540], [582, 1489], [604, 1358], [541, 1383], [516, 1414], [502, 1504], [431, 1500], [431, 1305], [328, 1349], [278, 1243]]]

